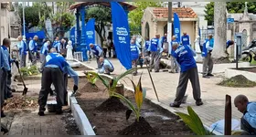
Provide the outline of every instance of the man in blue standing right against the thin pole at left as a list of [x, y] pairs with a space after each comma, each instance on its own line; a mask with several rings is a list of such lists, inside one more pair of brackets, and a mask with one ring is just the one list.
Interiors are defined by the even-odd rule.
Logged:
[[27, 42], [23, 40], [22, 36], [17, 37], [19, 44], [19, 58], [20, 58], [20, 68], [26, 67], [26, 58], [27, 58]]

